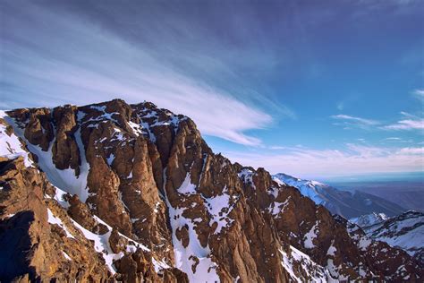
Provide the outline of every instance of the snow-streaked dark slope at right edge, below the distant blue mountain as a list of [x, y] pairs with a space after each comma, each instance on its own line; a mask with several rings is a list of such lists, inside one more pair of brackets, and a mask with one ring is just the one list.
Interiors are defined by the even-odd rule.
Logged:
[[370, 238], [400, 247], [424, 262], [424, 213], [409, 210], [390, 219], [380, 215], [373, 213], [350, 221], [362, 227]]

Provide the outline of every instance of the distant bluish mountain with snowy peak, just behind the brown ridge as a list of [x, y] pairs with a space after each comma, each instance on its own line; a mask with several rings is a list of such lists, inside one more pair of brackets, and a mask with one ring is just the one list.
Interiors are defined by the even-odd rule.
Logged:
[[309, 197], [319, 205], [325, 206], [333, 214], [339, 214], [346, 219], [367, 215], [373, 211], [381, 211], [388, 216], [399, 215], [405, 211], [396, 203], [386, 201], [369, 193], [341, 191], [328, 184], [302, 180], [283, 173], [274, 175], [273, 179], [279, 184], [287, 184], [298, 188], [304, 196]]

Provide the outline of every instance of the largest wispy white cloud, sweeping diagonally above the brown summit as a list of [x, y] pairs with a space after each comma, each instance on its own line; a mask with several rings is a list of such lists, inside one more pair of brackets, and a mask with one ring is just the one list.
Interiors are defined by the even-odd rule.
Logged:
[[[7, 58], [2, 63], [2, 73], [7, 75], [1, 76], [0, 91], [9, 102], [3, 107], [148, 100], [190, 116], [203, 134], [251, 146], [261, 141], [245, 132], [273, 122], [259, 107], [160, 61], [151, 55], [154, 48], [133, 45], [72, 14], [30, 8], [13, 15], [2, 13], [7, 17], [3, 30], [10, 31], [2, 35], [0, 48], [0, 56]], [[190, 56], [170, 50], [167, 56], [172, 55]], [[210, 64], [218, 63], [211, 60]], [[294, 116], [283, 109], [286, 116]]]

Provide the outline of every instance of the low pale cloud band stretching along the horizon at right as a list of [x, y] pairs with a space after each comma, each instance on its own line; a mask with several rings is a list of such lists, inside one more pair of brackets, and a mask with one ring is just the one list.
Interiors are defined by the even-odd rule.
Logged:
[[225, 152], [232, 161], [302, 177], [424, 171], [423, 148], [346, 144], [343, 150], [291, 148], [281, 154]]

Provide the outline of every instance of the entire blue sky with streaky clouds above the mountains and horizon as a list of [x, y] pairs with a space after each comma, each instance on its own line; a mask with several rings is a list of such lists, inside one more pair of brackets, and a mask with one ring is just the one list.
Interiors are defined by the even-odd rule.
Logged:
[[144, 100], [232, 161], [424, 180], [424, 2], [0, 3], [0, 108]]

